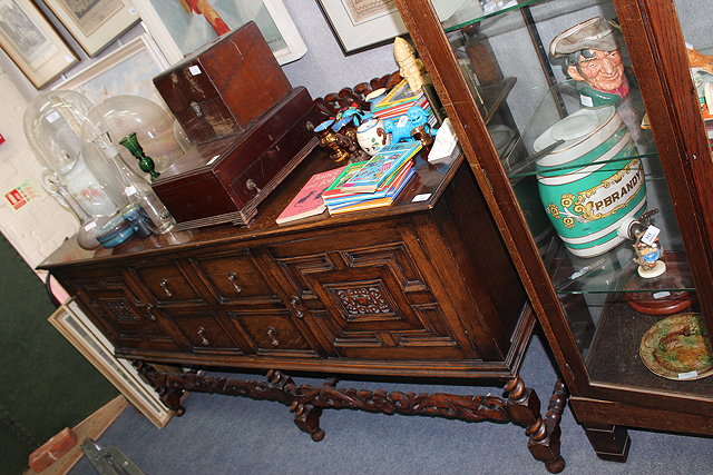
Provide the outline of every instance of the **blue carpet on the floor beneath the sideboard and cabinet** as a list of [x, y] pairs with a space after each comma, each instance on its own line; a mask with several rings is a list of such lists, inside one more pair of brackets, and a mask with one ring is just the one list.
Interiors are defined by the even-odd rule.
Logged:
[[[556, 376], [538, 338], [521, 370], [540, 399], [549, 398]], [[297, 383], [311, 382], [296, 378]], [[429, 393], [500, 395], [499, 388], [384, 385], [342, 382], [340, 386], [421, 389]], [[546, 404], [546, 403], [545, 403]], [[163, 429], [134, 408], [125, 410], [99, 443], [117, 446], [144, 472], [162, 474], [547, 474], [527, 449], [522, 428], [511, 424], [465, 423], [417, 416], [385, 416], [326, 409], [326, 437], [311, 441], [274, 402], [192, 394], [186, 414]], [[712, 441], [629, 431], [628, 462], [597, 458], [569, 409], [561, 424], [561, 453], [569, 474], [712, 474]], [[81, 459], [71, 475], [94, 474]]]

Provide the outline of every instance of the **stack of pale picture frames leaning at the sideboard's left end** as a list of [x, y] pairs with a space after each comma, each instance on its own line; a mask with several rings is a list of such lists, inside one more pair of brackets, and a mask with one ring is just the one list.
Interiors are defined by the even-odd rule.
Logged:
[[114, 346], [79, 309], [74, 299], [60, 305], [49, 323], [72, 344], [152, 424], [162, 428], [174, 413], [141, 379], [130, 363], [114, 356]]

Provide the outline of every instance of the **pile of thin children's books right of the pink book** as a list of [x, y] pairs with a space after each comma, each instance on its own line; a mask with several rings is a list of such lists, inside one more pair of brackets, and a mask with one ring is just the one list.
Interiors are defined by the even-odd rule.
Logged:
[[389, 206], [416, 172], [411, 158], [420, 142], [393, 144], [370, 160], [346, 166], [322, 194], [330, 215]]

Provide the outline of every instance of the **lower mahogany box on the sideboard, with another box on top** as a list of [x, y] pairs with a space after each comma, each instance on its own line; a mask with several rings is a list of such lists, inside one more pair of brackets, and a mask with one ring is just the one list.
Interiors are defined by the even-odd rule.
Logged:
[[198, 144], [152, 187], [176, 218], [176, 228], [219, 222], [248, 225], [257, 205], [316, 146], [306, 128], [313, 102], [294, 88], [243, 133]]

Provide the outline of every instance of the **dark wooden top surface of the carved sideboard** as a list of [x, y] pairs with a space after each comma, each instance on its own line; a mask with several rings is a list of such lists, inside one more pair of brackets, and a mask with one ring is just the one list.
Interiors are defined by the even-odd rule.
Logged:
[[[426, 160], [424, 154], [419, 154], [414, 157], [416, 175], [409, 180], [407, 187], [391, 206], [335, 217], [324, 212], [313, 218], [277, 225], [275, 218], [313, 174], [341, 166], [331, 161], [322, 149], [315, 148], [302, 165], [263, 201], [258, 207], [255, 220], [250, 227], [226, 224], [185, 231], [172, 231], [160, 236], [152, 235], [144, 239], [134, 238], [113, 249], [97, 248], [86, 250], [77, 245], [74, 237], [70, 237], [47, 257], [38, 268], [51, 270], [55, 267], [79, 265], [88, 261], [111, 261], [128, 256], [153, 254], [164, 249], [179, 250], [180, 248], [196, 246], [240, 243], [305, 229], [343, 226], [345, 224], [427, 210], [438, 202], [439, 197], [462, 160], [463, 157], [460, 155], [439, 164], [430, 164]], [[201, 197], [196, 197], [196, 199], [201, 199]]]

